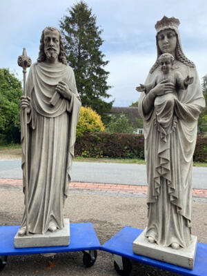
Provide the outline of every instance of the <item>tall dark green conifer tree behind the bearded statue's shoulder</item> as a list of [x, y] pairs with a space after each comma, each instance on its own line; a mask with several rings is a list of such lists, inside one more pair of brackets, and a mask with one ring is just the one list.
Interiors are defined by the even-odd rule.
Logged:
[[103, 30], [96, 26], [97, 18], [85, 2], [79, 1], [68, 12], [69, 16], [61, 19], [60, 28], [68, 64], [75, 71], [77, 90], [83, 106], [90, 106], [106, 121], [113, 101], [103, 100], [110, 97], [107, 90], [111, 87], [106, 81], [109, 72], [103, 69], [108, 61], [103, 61], [105, 55], [99, 49]]

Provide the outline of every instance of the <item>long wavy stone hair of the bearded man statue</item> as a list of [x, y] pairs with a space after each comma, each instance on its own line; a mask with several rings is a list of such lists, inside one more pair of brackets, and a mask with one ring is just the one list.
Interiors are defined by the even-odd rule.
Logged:
[[44, 52], [44, 32], [46, 30], [50, 30], [50, 31], [57, 31], [59, 32], [59, 55], [58, 55], [58, 60], [63, 63], [63, 64], [68, 64], [67, 60], [66, 60], [66, 52], [64, 50], [64, 45], [63, 45], [63, 39], [61, 37], [61, 32], [55, 28], [55, 27], [46, 27], [43, 29], [42, 33], [41, 33], [41, 39], [40, 39], [40, 46], [39, 46], [39, 57], [37, 59], [37, 62], [42, 62], [42, 61], [46, 61], [46, 54]]

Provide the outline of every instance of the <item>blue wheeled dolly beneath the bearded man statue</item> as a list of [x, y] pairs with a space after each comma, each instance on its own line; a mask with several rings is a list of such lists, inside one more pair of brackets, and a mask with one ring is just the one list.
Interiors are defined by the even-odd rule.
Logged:
[[8, 255], [28, 255], [41, 253], [63, 253], [82, 251], [83, 264], [92, 266], [97, 259], [97, 250], [101, 244], [92, 223], [70, 224], [69, 246], [14, 248], [14, 236], [19, 226], [0, 226], [0, 271], [7, 262]]

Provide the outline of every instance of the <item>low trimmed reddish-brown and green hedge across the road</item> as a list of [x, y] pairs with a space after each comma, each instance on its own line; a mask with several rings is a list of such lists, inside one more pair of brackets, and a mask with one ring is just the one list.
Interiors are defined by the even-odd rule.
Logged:
[[[144, 136], [129, 133], [85, 133], [83, 137], [77, 138], [75, 155], [144, 159]], [[193, 160], [207, 162], [207, 137], [201, 135], [197, 137]]]

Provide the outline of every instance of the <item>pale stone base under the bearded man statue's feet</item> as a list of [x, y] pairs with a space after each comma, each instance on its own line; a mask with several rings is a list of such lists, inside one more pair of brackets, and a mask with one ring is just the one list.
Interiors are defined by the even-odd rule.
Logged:
[[29, 234], [19, 236], [18, 232], [14, 237], [15, 248], [27, 247], [48, 247], [48, 246], [68, 246], [70, 244], [70, 220], [64, 219], [63, 229], [55, 232], [49, 230], [44, 234]]

